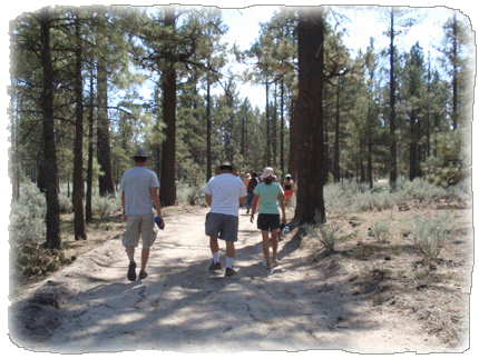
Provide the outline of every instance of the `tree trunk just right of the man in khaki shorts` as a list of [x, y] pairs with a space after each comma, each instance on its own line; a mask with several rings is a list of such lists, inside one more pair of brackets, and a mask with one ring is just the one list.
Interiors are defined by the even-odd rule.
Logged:
[[[165, 8], [165, 27], [175, 31], [175, 8]], [[170, 59], [162, 73], [163, 117], [166, 123], [166, 140], [162, 148], [162, 177], [159, 200], [163, 206], [176, 202], [176, 70]]]

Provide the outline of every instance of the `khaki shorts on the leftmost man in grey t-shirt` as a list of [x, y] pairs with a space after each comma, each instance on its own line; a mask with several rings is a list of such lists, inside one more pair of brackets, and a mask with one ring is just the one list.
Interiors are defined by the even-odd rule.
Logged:
[[157, 232], [154, 213], [130, 215], [127, 218], [121, 242], [125, 247], [138, 247], [139, 237], [141, 236], [143, 248], [148, 249], [155, 242]]

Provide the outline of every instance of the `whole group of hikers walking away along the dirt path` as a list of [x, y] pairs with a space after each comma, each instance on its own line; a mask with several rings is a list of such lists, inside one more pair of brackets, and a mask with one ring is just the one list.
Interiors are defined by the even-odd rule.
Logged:
[[[138, 149], [131, 157], [135, 167], [125, 171], [121, 182], [121, 206], [126, 229], [123, 235], [123, 246], [129, 259], [127, 278], [137, 279], [135, 249], [141, 238], [141, 267], [139, 279], [145, 279], [149, 251], [156, 240], [158, 227], [165, 226], [158, 197], [159, 181], [156, 173], [146, 168], [150, 157], [143, 149]], [[291, 206], [294, 193], [294, 181], [287, 174], [281, 186], [271, 167], [265, 167], [257, 173], [237, 176], [236, 168], [229, 161], [223, 161], [215, 170], [215, 176], [207, 182], [204, 193], [211, 207], [205, 220], [205, 235], [209, 237], [209, 248], [213, 261], [208, 269], [221, 270], [218, 239], [226, 243], [225, 276], [235, 275], [233, 261], [235, 242], [238, 240], [238, 210], [245, 205], [250, 220], [253, 223], [256, 211], [257, 229], [263, 238], [263, 255], [265, 268], [271, 269], [280, 265], [277, 259], [278, 230], [286, 225], [286, 206]], [[156, 211], [156, 213], [155, 213]], [[270, 233], [273, 258], [270, 258]]]

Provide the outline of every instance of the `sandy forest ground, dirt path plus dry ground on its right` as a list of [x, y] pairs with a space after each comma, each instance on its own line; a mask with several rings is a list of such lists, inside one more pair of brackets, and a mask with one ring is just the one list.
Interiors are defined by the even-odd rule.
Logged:
[[[261, 235], [240, 210], [237, 273], [212, 272], [204, 207], [164, 209], [144, 280], [126, 278], [120, 216], [86, 241], [63, 239], [69, 266], [22, 283], [10, 298], [9, 336], [33, 351], [80, 353], [153, 349], [173, 352], [344, 350], [359, 353], [463, 352], [470, 348], [473, 262], [471, 208], [457, 203], [331, 217], [341, 223], [333, 252], [293, 229], [281, 265], [263, 267]], [[427, 265], [404, 231], [414, 211], [448, 211], [459, 230]], [[291, 219], [294, 210], [287, 211]], [[385, 242], [369, 236], [389, 218]], [[137, 271], [140, 251], [136, 253]]]

